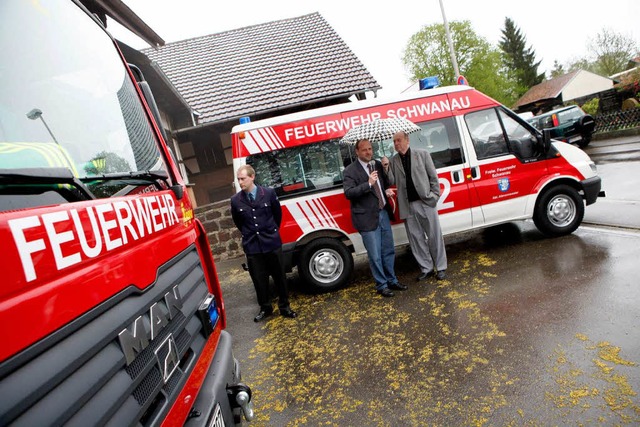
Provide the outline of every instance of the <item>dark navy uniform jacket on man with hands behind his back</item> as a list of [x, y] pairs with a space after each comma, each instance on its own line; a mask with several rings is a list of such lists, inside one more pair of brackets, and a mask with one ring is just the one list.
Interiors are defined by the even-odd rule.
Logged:
[[275, 251], [282, 247], [282, 208], [272, 188], [257, 186], [256, 200], [244, 191], [231, 196], [231, 217], [242, 233], [242, 249], [247, 255]]

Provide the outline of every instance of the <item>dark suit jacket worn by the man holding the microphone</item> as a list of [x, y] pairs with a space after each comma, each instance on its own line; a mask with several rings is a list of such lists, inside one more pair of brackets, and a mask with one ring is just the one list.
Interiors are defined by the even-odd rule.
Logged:
[[[382, 196], [385, 198], [385, 190], [389, 187], [389, 181], [382, 170], [382, 163], [376, 160], [376, 168], [380, 184], [382, 184]], [[343, 173], [344, 195], [351, 202], [351, 221], [358, 231], [373, 231], [378, 228], [379, 209], [378, 196], [373, 187], [369, 186], [369, 175], [362, 168], [360, 161], [351, 162]], [[377, 185], [377, 184], [376, 184]], [[387, 202], [385, 209], [389, 217], [393, 218], [393, 209]]]

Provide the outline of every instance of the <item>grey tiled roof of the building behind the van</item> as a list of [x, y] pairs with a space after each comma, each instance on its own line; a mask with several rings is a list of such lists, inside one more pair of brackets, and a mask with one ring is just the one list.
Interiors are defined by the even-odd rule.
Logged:
[[143, 52], [201, 124], [380, 88], [317, 12]]

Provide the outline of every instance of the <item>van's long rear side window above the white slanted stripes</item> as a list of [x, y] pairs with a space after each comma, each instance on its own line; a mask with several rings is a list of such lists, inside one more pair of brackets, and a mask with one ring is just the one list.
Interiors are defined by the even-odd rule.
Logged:
[[256, 171], [256, 183], [278, 196], [342, 185], [342, 172], [353, 159], [353, 147], [330, 140], [247, 157]]

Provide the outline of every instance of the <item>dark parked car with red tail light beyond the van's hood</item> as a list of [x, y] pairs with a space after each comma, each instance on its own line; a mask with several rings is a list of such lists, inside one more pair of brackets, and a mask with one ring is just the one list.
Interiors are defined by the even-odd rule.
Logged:
[[591, 142], [595, 119], [577, 105], [558, 108], [527, 119], [539, 131], [551, 129], [551, 138], [584, 148]]

